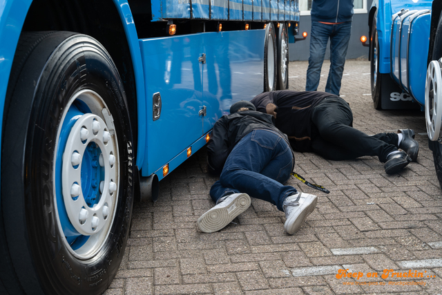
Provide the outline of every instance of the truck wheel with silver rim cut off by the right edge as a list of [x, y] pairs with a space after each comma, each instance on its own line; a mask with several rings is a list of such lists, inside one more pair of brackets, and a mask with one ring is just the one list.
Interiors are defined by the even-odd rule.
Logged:
[[[441, 67], [442, 64], [439, 62], [439, 59], [442, 58], [442, 15], [439, 18], [439, 24], [436, 30], [436, 37], [434, 38], [434, 46], [432, 52], [432, 61], [428, 66], [429, 70], [427, 70], [427, 83], [425, 85], [425, 121], [427, 124], [427, 133], [429, 134], [428, 144], [430, 149], [433, 151], [433, 160], [434, 160], [434, 168], [436, 169], [436, 175], [439, 180], [439, 185], [442, 188], [442, 144], [434, 138], [434, 141], [430, 140], [431, 137], [434, 137], [434, 128], [436, 125], [437, 128], [441, 128], [441, 122], [436, 121], [436, 117], [441, 117], [440, 108], [439, 111], [434, 110], [435, 106], [442, 104], [442, 75], [441, 75]], [[435, 68], [432, 68], [433, 65], [436, 65]], [[434, 70], [439, 68], [439, 73], [434, 73]], [[437, 85], [439, 84], [439, 85]], [[438, 99], [439, 97], [439, 99]], [[436, 104], [434, 104], [436, 102]], [[436, 112], [434, 112], [436, 111]], [[437, 131], [436, 131], [437, 132]], [[440, 137], [441, 135], [439, 135]], [[436, 136], [438, 137], [438, 136]]]

